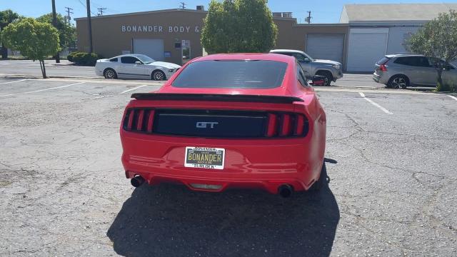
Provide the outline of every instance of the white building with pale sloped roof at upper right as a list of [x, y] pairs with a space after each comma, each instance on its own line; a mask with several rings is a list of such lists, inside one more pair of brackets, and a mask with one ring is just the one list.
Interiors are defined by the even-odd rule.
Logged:
[[347, 71], [373, 71], [386, 54], [404, 54], [405, 41], [439, 13], [457, 4], [346, 4], [340, 23], [349, 25]]

